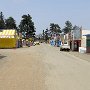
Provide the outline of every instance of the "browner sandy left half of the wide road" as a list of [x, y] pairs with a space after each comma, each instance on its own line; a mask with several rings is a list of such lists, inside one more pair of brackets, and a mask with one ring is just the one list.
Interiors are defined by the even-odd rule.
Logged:
[[[37, 52], [36, 52], [37, 51]], [[0, 90], [44, 90], [44, 72], [39, 48], [2, 49]]]

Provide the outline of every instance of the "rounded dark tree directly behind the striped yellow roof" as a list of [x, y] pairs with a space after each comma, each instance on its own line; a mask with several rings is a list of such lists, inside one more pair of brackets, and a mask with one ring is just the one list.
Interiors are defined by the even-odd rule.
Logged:
[[12, 17], [9, 17], [5, 20], [5, 28], [6, 29], [16, 29], [16, 22]]

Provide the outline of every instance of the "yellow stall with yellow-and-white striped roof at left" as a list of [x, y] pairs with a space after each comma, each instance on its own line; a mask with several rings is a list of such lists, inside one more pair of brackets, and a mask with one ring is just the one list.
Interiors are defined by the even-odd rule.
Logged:
[[14, 29], [0, 31], [0, 48], [16, 48], [18, 45], [18, 34]]

